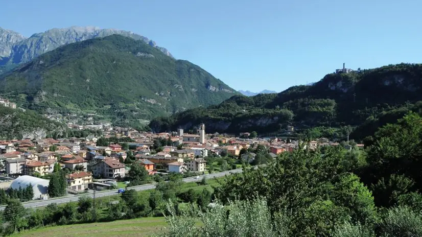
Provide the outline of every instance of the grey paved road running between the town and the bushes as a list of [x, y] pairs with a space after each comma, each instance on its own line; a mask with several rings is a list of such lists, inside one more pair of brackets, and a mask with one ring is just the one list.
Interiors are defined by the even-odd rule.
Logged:
[[[223, 171], [223, 172], [218, 172], [218, 173], [213, 173], [213, 174], [200, 175], [198, 179], [196, 179], [195, 177], [184, 178], [183, 181], [184, 182], [195, 182], [195, 181], [201, 180], [203, 177], [210, 179], [210, 178], [222, 177], [222, 176], [225, 176], [225, 175], [230, 175], [230, 174], [233, 174], [233, 173], [241, 173], [241, 172], [242, 172], [242, 169]], [[128, 187], [127, 189], [135, 189], [136, 191], [142, 191], [142, 190], [153, 189], [153, 188], [155, 188], [155, 184], [138, 185], [138, 186]], [[116, 189], [113, 189], [113, 190], [96, 192], [95, 195], [96, 195], [96, 198], [99, 198], [99, 197], [107, 197], [107, 196], [118, 195], [118, 193], [117, 193]], [[81, 197], [81, 196], [88, 196], [88, 197], [92, 198], [93, 194], [79, 194], [79, 195], [53, 198], [53, 199], [47, 199], [47, 200], [37, 200], [37, 201], [25, 202], [25, 203], [23, 203], [23, 205], [24, 205], [24, 207], [35, 208], [35, 207], [47, 206], [51, 203], [60, 204], [60, 203], [65, 203], [65, 202], [75, 202], [75, 201], [78, 201], [79, 197]], [[0, 210], [4, 210], [5, 207], [6, 207], [6, 205], [0, 206]]]

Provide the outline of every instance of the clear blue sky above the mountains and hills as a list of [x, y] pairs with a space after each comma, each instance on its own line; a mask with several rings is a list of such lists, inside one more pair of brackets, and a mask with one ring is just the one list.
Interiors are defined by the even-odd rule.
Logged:
[[235, 88], [282, 91], [336, 68], [418, 63], [416, 0], [14, 0], [0, 27], [25, 36], [98, 26], [144, 35]]

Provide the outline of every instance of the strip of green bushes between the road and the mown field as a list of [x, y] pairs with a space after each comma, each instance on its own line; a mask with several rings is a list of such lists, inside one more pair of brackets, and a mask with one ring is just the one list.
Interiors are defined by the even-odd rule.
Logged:
[[97, 199], [82, 196], [78, 202], [53, 203], [37, 209], [26, 209], [13, 196], [6, 199], [6, 209], [0, 213], [0, 233], [9, 235], [45, 226], [162, 217], [166, 200], [171, 200], [178, 210], [189, 204], [206, 208], [218, 185], [215, 179], [184, 183], [180, 176], [171, 176], [169, 182], [160, 181], [156, 189], [148, 191], [128, 189], [119, 196]]

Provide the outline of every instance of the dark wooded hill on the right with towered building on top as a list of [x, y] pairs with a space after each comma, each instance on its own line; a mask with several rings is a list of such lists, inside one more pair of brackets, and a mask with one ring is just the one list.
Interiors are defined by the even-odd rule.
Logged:
[[[328, 74], [309, 86], [294, 86], [278, 94], [234, 96], [208, 108], [195, 108], [151, 121], [155, 131], [189, 129], [205, 123], [207, 132], [275, 132], [297, 128], [366, 125], [374, 130], [388, 114], [395, 121], [422, 101], [422, 64], [397, 64], [349, 74]], [[366, 135], [368, 127], [357, 138]]]

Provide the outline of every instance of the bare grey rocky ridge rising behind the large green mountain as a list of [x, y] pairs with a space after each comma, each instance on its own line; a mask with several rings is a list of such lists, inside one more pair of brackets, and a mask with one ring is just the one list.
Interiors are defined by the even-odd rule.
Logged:
[[[0, 66], [3, 66], [3, 68], [8, 66], [8, 68], [10, 68], [12, 65], [29, 62], [46, 52], [55, 50], [59, 46], [68, 43], [97, 37], [106, 37], [113, 34], [123, 35], [135, 40], [142, 40], [167, 56], [173, 57], [167, 49], [157, 46], [154, 41], [130, 31], [73, 26], [61, 29], [53, 28], [26, 38], [14, 31], [0, 28]], [[2, 73], [1, 70], [0, 73]]]

